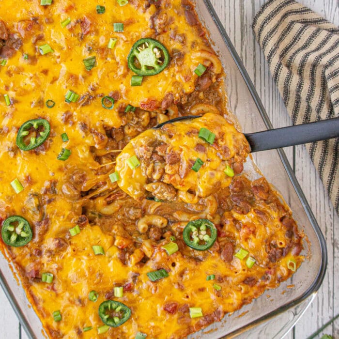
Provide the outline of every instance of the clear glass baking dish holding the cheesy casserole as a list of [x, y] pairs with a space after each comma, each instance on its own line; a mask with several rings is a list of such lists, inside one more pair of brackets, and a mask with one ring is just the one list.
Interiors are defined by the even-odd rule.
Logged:
[[[272, 128], [258, 94], [210, 1], [194, 2], [200, 20], [210, 32], [211, 43], [223, 63], [227, 75], [225, 83], [229, 109], [236, 115], [240, 128], [245, 133]], [[275, 185], [291, 206], [295, 220], [304, 230], [308, 239], [308, 242], [304, 242], [306, 260], [293, 277], [277, 289], [266, 291], [251, 304], [227, 314], [221, 322], [212, 324], [189, 338], [245, 338], [249, 335], [252, 338], [265, 338], [265, 333], [269, 333], [271, 338], [282, 338], [306, 310], [323, 281], [327, 263], [324, 236], [286, 155], [282, 150], [272, 150], [253, 154], [253, 158], [267, 180]], [[254, 176], [258, 175], [254, 170], [250, 172]], [[20, 323], [29, 338], [47, 337], [18, 281], [15, 267], [8, 264], [0, 254], [0, 284]], [[278, 321], [274, 321], [273, 317]]]

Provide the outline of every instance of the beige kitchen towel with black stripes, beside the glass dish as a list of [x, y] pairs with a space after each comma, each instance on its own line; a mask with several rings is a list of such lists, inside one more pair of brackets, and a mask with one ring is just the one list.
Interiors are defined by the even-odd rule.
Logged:
[[[339, 28], [294, 0], [269, 0], [253, 22], [293, 124], [339, 116]], [[306, 145], [339, 215], [339, 138]]]

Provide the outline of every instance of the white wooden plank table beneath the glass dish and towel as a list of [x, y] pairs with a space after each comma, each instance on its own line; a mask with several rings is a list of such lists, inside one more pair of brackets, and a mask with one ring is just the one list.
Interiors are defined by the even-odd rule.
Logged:
[[[290, 125], [291, 119], [251, 29], [253, 17], [265, 0], [212, 0], [212, 2], [245, 64], [273, 126]], [[339, 25], [338, 0], [299, 0], [299, 2]], [[304, 339], [339, 313], [339, 218], [306, 148], [289, 147], [285, 152], [324, 232], [328, 249], [328, 267], [323, 285], [312, 305], [287, 336], [288, 339]], [[0, 305], [0, 338], [27, 339], [1, 289]], [[339, 339], [339, 319], [327, 326], [322, 334], [324, 333]], [[321, 338], [322, 334], [317, 338]]]

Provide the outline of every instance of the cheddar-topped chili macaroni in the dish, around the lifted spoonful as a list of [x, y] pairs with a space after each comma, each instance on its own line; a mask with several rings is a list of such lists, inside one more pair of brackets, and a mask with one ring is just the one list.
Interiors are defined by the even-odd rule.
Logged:
[[[221, 63], [190, 1], [99, 4], [104, 14], [96, 13], [97, 3], [84, 0], [46, 6], [39, 0], [1, 1], [0, 60], [6, 64], [0, 65], [0, 225], [9, 216], [23, 216], [33, 238], [23, 247], [1, 239], [0, 249], [20, 272], [49, 338], [127, 339], [138, 332], [184, 338], [291, 277], [288, 262], [297, 268], [303, 261], [303, 235], [266, 180], [249, 180], [237, 162], [230, 163], [236, 175], [220, 178], [219, 191], [211, 191], [209, 181], [201, 183], [202, 194], [193, 203], [137, 201], [109, 180], [123, 147], [156, 123], [205, 112], [232, 118], [225, 109]], [[62, 28], [68, 17], [71, 23]], [[123, 23], [123, 32], [115, 32], [114, 23]], [[143, 37], [166, 46], [170, 64], [132, 87], [126, 58]], [[114, 48], [108, 48], [110, 38], [117, 39]], [[42, 55], [39, 46], [45, 44], [53, 51]], [[82, 60], [91, 56], [96, 65], [87, 71]], [[200, 63], [206, 71], [198, 77]], [[65, 102], [68, 90], [79, 94], [76, 103]], [[101, 105], [107, 95], [115, 100], [111, 110]], [[47, 100], [55, 106], [47, 108]], [[136, 110], [125, 112], [127, 105]], [[37, 118], [50, 123], [50, 135], [41, 146], [21, 151], [15, 144], [18, 129]], [[223, 120], [211, 114], [202, 119], [207, 128], [213, 119]], [[234, 136], [227, 126], [220, 128]], [[62, 141], [62, 133], [69, 141]], [[192, 142], [184, 134], [175, 138]], [[62, 148], [71, 151], [65, 161], [57, 159]], [[216, 152], [209, 156], [218, 164]], [[24, 188], [18, 194], [10, 185], [15, 178]], [[218, 230], [206, 251], [183, 241], [185, 225], [198, 218]], [[71, 236], [76, 225], [80, 232]], [[171, 237], [179, 250], [168, 255], [162, 247]], [[95, 255], [92, 246], [105, 254]], [[253, 267], [235, 256], [241, 248], [255, 259]], [[151, 281], [147, 273], [159, 269], [168, 277]], [[46, 272], [53, 274], [51, 283], [42, 281]], [[208, 275], [215, 280], [207, 281]], [[114, 296], [114, 287], [123, 287], [122, 297]], [[89, 300], [92, 290], [96, 302]], [[131, 317], [99, 334], [98, 308], [109, 299], [129, 307]], [[191, 319], [193, 307], [203, 316]], [[57, 310], [59, 322], [53, 319]], [[88, 326], [93, 328], [84, 332]]]

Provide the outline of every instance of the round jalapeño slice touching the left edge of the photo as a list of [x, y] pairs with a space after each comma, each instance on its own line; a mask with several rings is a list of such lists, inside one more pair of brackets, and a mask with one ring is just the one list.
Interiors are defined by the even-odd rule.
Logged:
[[30, 223], [22, 216], [10, 216], [3, 222], [1, 236], [6, 245], [25, 246], [32, 239]]

